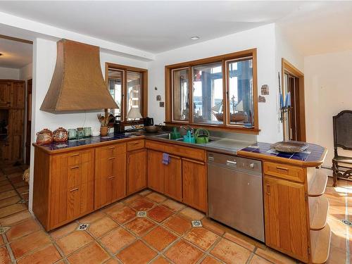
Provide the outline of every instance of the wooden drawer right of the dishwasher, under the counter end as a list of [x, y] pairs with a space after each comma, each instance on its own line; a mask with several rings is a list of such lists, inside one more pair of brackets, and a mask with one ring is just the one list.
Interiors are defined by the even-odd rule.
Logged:
[[303, 168], [271, 162], [264, 162], [264, 174], [296, 182], [304, 182], [305, 177]]

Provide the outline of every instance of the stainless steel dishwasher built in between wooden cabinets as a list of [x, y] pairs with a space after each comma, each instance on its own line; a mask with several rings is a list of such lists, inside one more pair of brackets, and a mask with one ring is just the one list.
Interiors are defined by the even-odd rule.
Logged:
[[265, 240], [260, 161], [208, 152], [208, 216]]

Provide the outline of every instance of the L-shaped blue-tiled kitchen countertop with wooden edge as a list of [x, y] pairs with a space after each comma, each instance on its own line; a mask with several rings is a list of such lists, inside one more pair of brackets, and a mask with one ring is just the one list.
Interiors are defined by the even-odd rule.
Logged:
[[220, 137], [210, 137], [213, 141], [207, 144], [191, 144], [172, 139], [165, 139], [160, 137], [162, 134], [168, 132], [158, 132], [157, 134], [150, 134], [143, 131], [140, 132], [126, 132], [118, 136], [108, 134], [107, 137], [88, 137], [84, 139], [69, 140], [68, 142], [54, 142], [47, 145], [33, 144], [48, 153], [62, 153], [71, 149], [86, 149], [94, 145], [106, 145], [111, 142], [126, 142], [135, 139], [151, 139], [153, 141], [172, 143], [181, 146], [188, 146], [197, 149], [204, 149], [206, 151], [213, 151], [218, 153], [225, 153], [230, 155], [238, 155], [247, 158], [255, 158], [258, 160], [275, 161], [281, 163], [288, 163], [292, 165], [299, 165], [303, 167], [315, 167], [321, 165], [326, 156], [326, 149], [316, 144], [308, 143], [308, 149], [302, 153], [279, 153], [271, 149], [271, 144], [264, 142], [245, 142], [236, 139], [225, 139]]

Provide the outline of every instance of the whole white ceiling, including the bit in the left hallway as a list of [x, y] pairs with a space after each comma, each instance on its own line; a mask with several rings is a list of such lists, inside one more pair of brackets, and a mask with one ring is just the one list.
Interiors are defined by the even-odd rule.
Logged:
[[[0, 11], [154, 54], [273, 22], [304, 56], [352, 49], [352, 1], [1, 1]], [[28, 61], [28, 46], [0, 52]]]

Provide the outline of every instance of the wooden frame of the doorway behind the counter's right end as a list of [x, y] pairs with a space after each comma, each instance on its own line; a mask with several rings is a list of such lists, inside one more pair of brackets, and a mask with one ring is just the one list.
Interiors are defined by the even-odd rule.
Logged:
[[[300, 128], [300, 134], [301, 134], [301, 141], [306, 142], [306, 108], [305, 108], [305, 102], [304, 102], [304, 74], [284, 58], [282, 58], [281, 67], [282, 67], [281, 68], [281, 75], [282, 75], [281, 93], [282, 94], [284, 94], [284, 73], [290, 73], [291, 75], [294, 75], [295, 77], [298, 78], [299, 128]], [[284, 121], [282, 122], [282, 127], [283, 127], [283, 133], [285, 138], [286, 124]]]

